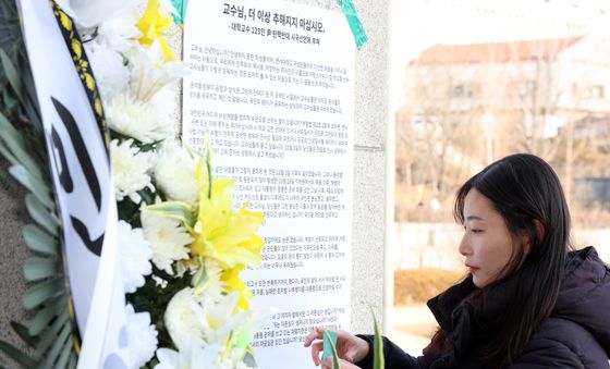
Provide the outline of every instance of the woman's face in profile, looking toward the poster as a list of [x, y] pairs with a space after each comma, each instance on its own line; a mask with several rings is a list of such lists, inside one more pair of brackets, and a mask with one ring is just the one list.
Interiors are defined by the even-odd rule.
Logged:
[[502, 216], [475, 188], [464, 199], [464, 230], [460, 254], [474, 284], [483, 288], [503, 276], [516, 246]]

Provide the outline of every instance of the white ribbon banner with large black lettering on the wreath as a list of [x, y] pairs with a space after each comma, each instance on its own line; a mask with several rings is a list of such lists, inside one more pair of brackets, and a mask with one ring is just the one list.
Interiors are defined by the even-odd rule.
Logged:
[[[51, 4], [20, 1], [20, 10], [60, 212], [73, 318], [83, 339], [78, 368], [126, 368], [125, 298], [108, 150]], [[74, 27], [72, 20], [66, 24]], [[80, 40], [70, 46], [74, 42]]]

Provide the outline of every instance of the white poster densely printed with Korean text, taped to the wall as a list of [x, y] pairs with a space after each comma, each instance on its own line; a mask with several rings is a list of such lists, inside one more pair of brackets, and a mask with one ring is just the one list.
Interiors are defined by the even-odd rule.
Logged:
[[354, 40], [339, 11], [281, 1], [191, 1], [183, 138], [237, 202], [265, 213], [263, 266], [244, 272], [277, 309], [261, 368], [314, 368], [314, 327], [350, 329]]

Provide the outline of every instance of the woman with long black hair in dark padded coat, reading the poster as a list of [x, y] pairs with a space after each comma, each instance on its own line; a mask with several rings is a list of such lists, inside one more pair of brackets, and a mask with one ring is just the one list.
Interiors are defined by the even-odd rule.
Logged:
[[[552, 168], [505, 157], [457, 190], [468, 275], [428, 302], [439, 329], [422, 356], [383, 339], [386, 368], [610, 368], [610, 269], [573, 250]], [[305, 340], [320, 365], [324, 329]], [[373, 336], [338, 332], [341, 368], [373, 366]], [[330, 366], [330, 361], [322, 362]]]

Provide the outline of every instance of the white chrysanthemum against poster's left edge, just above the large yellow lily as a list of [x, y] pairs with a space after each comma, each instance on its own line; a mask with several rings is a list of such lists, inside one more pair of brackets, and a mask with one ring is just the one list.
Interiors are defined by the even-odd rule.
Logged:
[[166, 142], [157, 156], [155, 179], [169, 199], [197, 202], [197, 159], [176, 142]]

